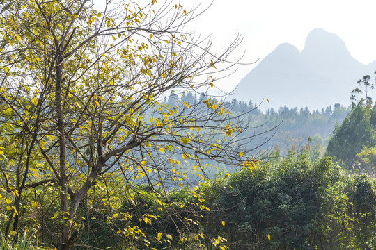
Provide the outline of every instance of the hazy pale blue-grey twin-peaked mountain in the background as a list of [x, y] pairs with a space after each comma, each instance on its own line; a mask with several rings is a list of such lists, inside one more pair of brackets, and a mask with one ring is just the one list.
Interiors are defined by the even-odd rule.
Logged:
[[[280, 44], [240, 81], [233, 93], [238, 100], [260, 103], [267, 108], [280, 106], [321, 110], [334, 103], [350, 104], [350, 91], [369, 74], [374, 78], [376, 61], [363, 65], [355, 60], [338, 35], [316, 28], [308, 34], [299, 51]], [[375, 97], [375, 94], [373, 94]]]

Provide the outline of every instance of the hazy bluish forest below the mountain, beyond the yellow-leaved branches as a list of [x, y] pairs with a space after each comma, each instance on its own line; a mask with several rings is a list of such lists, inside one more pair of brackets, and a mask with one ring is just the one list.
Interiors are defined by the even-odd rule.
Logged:
[[[178, 102], [202, 103], [210, 97], [207, 94], [194, 94], [191, 92], [171, 92], [166, 98], [169, 106], [174, 106]], [[254, 138], [249, 147], [263, 145], [263, 151], [274, 151], [281, 156], [288, 153], [299, 153], [309, 149], [313, 158], [323, 156], [329, 141], [329, 135], [336, 123], [341, 124], [346, 115], [350, 113], [351, 106], [343, 106], [336, 103], [334, 107], [329, 106], [322, 110], [310, 111], [306, 108], [280, 107], [278, 110], [269, 108], [265, 112], [261, 111], [257, 103], [249, 101], [230, 101], [223, 99], [213, 99], [214, 102], [226, 104], [233, 115], [244, 113], [243, 124], [254, 128], [249, 133], [263, 133], [262, 136]], [[276, 128], [276, 129], [273, 129]], [[265, 133], [265, 131], [269, 131]], [[242, 133], [243, 138], [250, 134]], [[308, 138], [309, 140], [308, 144]]]

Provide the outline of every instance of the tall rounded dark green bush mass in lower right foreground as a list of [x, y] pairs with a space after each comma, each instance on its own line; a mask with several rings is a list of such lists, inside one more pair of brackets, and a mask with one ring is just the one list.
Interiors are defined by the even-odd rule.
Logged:
[[373, 249], [375, 188], [373, 179], [346, 176], [327, 158], [244, 169], [205, 190], [219, 211], [207, 230], [231, 249]]

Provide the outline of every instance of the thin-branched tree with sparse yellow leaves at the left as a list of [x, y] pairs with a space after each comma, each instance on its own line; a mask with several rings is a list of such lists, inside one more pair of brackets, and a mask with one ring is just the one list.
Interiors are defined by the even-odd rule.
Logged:
[[[242, 146], [251, 138], [236, 137], [246, 127], [221, 103], [162, 103], [171, 90], [212, 87], [211, 74], [238, 38], [214, 55], [210, 42], [182, 30], [194, 13], [179, 2], [106, 1], [100, 11], [90, 3], [0, 3], [5, 232], [17, 237], [23, 213], [40, 207], [60, 225], [52, 238], [59, 250], [70, 249], [83, 232], [83, 201], [90, 210], [99, 199], [95, 191], [104, 187], [106, 196], [97, 202], [110, 202], [111, 181], [121, 178], [116, 184], [125, 190], [146, 182], [152, 192], [166, 194], [190, 181], [192, 169], [180, 161], [192, 163], [203, 178], [206, 160], [249, 165], [253, 157]], [[179, 232], [185, 242], [184, 228]], [[157, 241], [162, 233], [156, 232]]]

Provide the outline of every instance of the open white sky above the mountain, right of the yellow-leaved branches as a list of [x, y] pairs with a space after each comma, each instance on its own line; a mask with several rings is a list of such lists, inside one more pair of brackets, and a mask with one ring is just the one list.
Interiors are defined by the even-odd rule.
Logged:
[[[187, 9], [211, 0], [181, 0]], [[265, 58], [279, 44], [288, 42], [300, 51], [313, 28], [323, 28], [342, 38], [352, 56], [363, 64], [376, 60], [375, 0], [214, 0], [212, 6], [187, 26], [196, 34], [212, 34], [213, 50], [226, 47], [238, 33], [244, 38], [234, 54], [251, 63]], [[219, 82], [231, 90], [256, 65], [239, 66]], [[376, 69], [375, 69], [376, 70]]]

